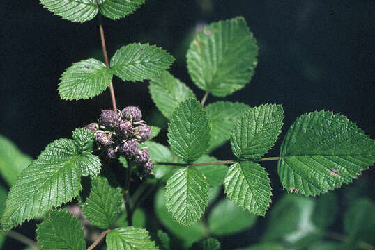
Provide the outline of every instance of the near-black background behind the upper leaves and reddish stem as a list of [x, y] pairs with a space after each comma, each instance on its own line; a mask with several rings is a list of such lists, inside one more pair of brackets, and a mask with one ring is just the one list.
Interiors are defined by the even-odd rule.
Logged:
[[[176, 58], [172, 74], [201, 99], [204, 92], [192, 83], [185, 63], [192, 35], [199, 24], [242, 15], [257, 38], [259, 62], [250, 84], [227, 100], [250, 106], [282, 103], [284, 131], [303, 113], [332, 110], [374, 138], [374, 10], [374, 1], [361, 0], [146, 0], [125, 19], [105, 19], [104, 28], [109, 56], [130, 42], [149, 42], [169, 51]], [[0, 133], [22, 151], [36, 158], [47, 144], [70, 138], [75, 128], [95, 121], [101, 108], [111, 108], [109, 90], [85, 101], [63, 101], [56, 90], [72, 63], [102, 60], [96, 19], [72, 23], [52, 15], [38, 1], [1, 1], [0, 24]], [[139, 106], [151, 124], [165, 125], [152, 115], [155, 105], [147, 87], [147, 82], [114, 78], [117, 105]], [[220, 99], [210, 96], [207, 103], [216, 100]], [[158, 140], [166, 143], [165, 136]], [[269, 156], [277, 156], [280, 142]], [[215, 156], [232, 157], [228, 146]], [[283, 192], [275, 163], [264, 166], [275, 202]], [[373, 175], [370, 170], [363, 178]], [[238, 246], [254, 239], [249, 234], [232, 238]], [[224, 245], [230, 241], [224, 239]]]

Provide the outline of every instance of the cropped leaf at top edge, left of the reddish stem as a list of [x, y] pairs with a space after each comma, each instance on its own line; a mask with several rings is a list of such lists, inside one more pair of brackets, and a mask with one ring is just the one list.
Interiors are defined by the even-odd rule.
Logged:
[[40, 0], [47, 10], [72, 22], [86, 22], [98, 14], [95, 0]]

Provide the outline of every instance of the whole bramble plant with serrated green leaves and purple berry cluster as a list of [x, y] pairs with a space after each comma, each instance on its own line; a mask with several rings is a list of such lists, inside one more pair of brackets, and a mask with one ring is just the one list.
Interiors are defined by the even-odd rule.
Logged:
[[[151, 239], [146, 229], [132, 225], [137, 206], [155, 187], [165, 184], [164, 190], [156, 194], [155, 206], [164, 206], [160, 203], [164, 200], [166, 208], [159, 210], [159, 216], [167, 228], [173, 228], [170, 225], [176, 222], [195, 228], [204, 224], [203, 228], [214, 235], [226, 235], [246, 228], [248, 222], [243, 222], [243, 218], [254, 222], [255, 217], [250, 214], [267, 213], [272, 194], [262, 161], [277, 161], [284, 189], [306, 197], [350, 183], [374, 163], [374, 141], [344, 115], [325, 110], [301, 115], [288, 129], [280, 156], [265, 157], [282, 131], [282, 105], [249, 107], [245, 103], [217, 101], [204, 106], [210, 94], [226, 97], [245, 87], [254, 74], [258, 47], [243, 17], [209, 24], [190, 44], [188, 72], [206, 92], [197, 101], [185, 83], [167, 72], [174, 58], [159, 47], [128, 44], [108, 59], [102, 17], [126, 17], [143, 0], [40, 3], [72, 22], [86, 22], [98, 16], [105, 62], [89, 58], [73, 63], [63, 72], [58, 90], [63, 100], [79, 100], [93, 98], [109, 88], [113, 110], [102, 110], [97, 121], [73, 131], [72, 139], [47, 145], [29, 167], [17, 170], [17, 180], [14, 174], [1, 170], [12, 185], [1, 217], [3, 231], [43, 217], [36, 231], [41, 249], [93, 249], [103, 238], [107, 249], [170, 249], [169, 236], [163, 231]], [[136, 103], [117, 109], [114, 76], [125, 82], [150, 80], [151, 97], [170, 121], [169, 147], [153, 142], [160, 128], [150, 127], [142, 120], [141, 110], [133, 106]], [[234, 160], [209, 156], [228, 141]], [[24, 159], [22, 164], [29, 162], [25, 156], [20, 158]], [[125, 167], [125, 176], [114, 175], [112, 168], [119, 165]], [[135, 184], [138, 186], [132, 187], [135, 191], [131, 193], [130, 186]], [[217, 203], [205, 222], [205, 210], [215, 197], [212, 190], [215, 192], [217, 188], [213, 188], [222, 184], [231, 202]], [[73, 199], [88, 223], [102, 230], [89, 247], [78, 218], [60, 208]], [[294, 196], [287, 196], [280, 206], [300, 206], [299, 202]], [[360, 204], [371, 217], [372, 204], [367, 200]], [[324, 213], [326, 208], [319, 209]], [[166, 210], [169, 215], [162, 215]], [[277, 220], [277, 212], [272, 215]], [[176, 222], [168, 221], [168, 216]], [[227, 224], [233, 222], [237, 228], [228, 228]], [[201, 240], [197, 231], [193, 229], [191, 235], [183, 236], [181, 233], [187, 231], [172, 233], [195, 241], [190, 242], [191, 249], [220, 249], [220, 242], [208, 237], [209, 233]], [[277, 226], [265, 238], [272, 240], [276, 231]], [[282, 249], [272, 244], [254, 249], [274, 248]]]

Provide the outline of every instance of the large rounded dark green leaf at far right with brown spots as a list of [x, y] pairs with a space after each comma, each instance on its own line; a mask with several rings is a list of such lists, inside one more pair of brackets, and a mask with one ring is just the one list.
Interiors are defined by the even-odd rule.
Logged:
[[374, 140], [344, 115], [298, 117], [280, 149], [277, 171], [289, 192], [316, 195], [349, 183], [375, 161]]

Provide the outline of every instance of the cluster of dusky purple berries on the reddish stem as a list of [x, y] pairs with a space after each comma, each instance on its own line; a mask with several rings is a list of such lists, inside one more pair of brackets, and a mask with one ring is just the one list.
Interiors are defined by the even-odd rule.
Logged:
[[102, 110], [98, 123], [84, 128], [95, 135], [95, 145], [107, 158], [125, 156], [134, 165], [149, 173], [153, 169], [147, 149], [139, 149], [138, 143], [151, 136], [151, 128], [142, 120], [141, 110], [129, 106], [121, 112]]

